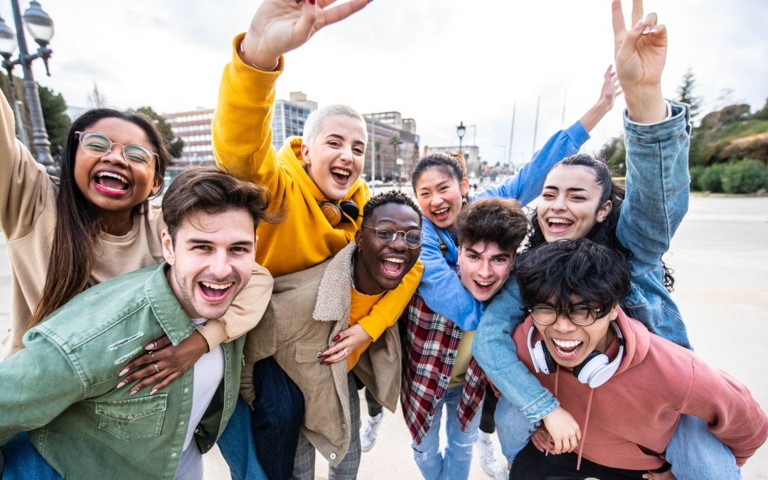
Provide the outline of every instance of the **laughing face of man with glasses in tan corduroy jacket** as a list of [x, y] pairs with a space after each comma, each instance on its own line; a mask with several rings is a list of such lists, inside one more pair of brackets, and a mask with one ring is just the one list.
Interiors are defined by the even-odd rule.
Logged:
[[393, 290], [419, 260], [421, 247], [409, 248], [402, 233], [385, 245], [376, 230], [366, 227], [391, 227], [400, 232], [421, 231], [419, 214], [403, 204], [383, 204], [373, 210], [370, 220], [357, 231], [355, 286], [357, 291], [374, 295]]

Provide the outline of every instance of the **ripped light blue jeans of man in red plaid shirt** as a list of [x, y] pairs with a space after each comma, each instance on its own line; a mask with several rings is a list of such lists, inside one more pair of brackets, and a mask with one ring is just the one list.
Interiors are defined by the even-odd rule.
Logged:
[[[413, 458], [425, 480], [466, 480], [469, 477], [469, 466], [472, 465], [472, 446], [478, 438], [479, 413], [467, 425], [467, 431], [462, 432], [462, 424], [458, 422], [456, 406], [462, 400], [463, 385], [452, 387], [445, 391], [445, 396], [435, 407], [432, 427], [424, 435], [421, 444], [412, 443]], [[445, 433], [448, 445], [445, 454], [440, 453], [440, 420], [445, 407]]]

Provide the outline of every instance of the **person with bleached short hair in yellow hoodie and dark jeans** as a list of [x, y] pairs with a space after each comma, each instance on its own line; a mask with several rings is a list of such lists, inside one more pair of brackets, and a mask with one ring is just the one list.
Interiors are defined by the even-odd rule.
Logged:
[[[263, 2], [247, 32], [234, 39], [232, 61], [224, 68], [220, 84], [213, 122], [217, 164], [237, 177], [264, 184], [273, 195], [272, 208], [285, 212], [280, 227], [260, 225], [257, 230], [257, 262], [273, 276], [306, 270], [346, 247], [360, 228], [360, 207], [370, 197], [366, 183], [360, 179], [368, 144], [366, 122], [352, 108], [332, 105], [313, 112], [303, 137], [289, 138], [280, 151], [271, 144], [275, 82], [283, 71], [283, 54], [369, 3], [352, 0], [331, 5], [333, 1]], [[417, 263], [395, 290], [382, 296], [369, 315], [339, 332], [323, 355], [334, 362], [343, 358], [345, 349], [352, 351], [362, 343], [376, 341], [397, 321], [419, 284], [422, 270], [422, 264]], [[270, 424], [255, 439], [267, 474], [270, 478], [286, 478], [293, 469], [303, 407], [300, 392], [284, 373], [280, 372], [280, 379], [275, 381], [276, 369], [279, 367], [270, 359], [255, 366], [254, 382], [261, 395], [252, 405], [256, 412], [253, 421]], [[260, 382], [263, 377], [270, 381]], [[277, 386], [286, 389], [276, 391]], [[298, 405], [289, 408], [289, 399], [296, 399]], [[289, 430], [295, 435], [287, 435], [286, 442], [277, 440], [286, 439], [285, 432], [270, 435], [274, 427], [291, 425], [291, 421]], [[227, 452], [224, 455], [227, 458]], [[282, 463], [282, 469], [273, 470], [270, 465], [275, 463]]]

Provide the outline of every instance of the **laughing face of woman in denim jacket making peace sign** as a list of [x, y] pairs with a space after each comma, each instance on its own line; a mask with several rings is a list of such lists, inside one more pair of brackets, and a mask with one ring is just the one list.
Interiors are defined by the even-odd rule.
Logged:
[[538, 226], [548, 242], [587, 237], [611, 212], [600, 204], [602, 188], [588, 167], [560, 165], [550, 170], [537, 207]]

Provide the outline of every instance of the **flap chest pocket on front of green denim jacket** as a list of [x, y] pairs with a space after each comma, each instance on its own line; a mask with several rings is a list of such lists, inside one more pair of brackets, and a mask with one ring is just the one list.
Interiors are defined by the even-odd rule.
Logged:
[[160, 435], [165, 419], [167, 393], [140, 399], [96, 402], [98, 428], [124, 440], [150, 439]]

